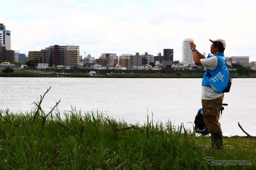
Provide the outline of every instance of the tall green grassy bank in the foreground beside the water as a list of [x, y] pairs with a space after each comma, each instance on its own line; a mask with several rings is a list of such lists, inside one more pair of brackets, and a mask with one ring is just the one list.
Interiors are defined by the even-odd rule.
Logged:
[[[153, 118], [144, 125], [129, 125], [75, 108], [60, 114], [54, 109], [58, 103], [45, 113], [40, 107], [43, 98], [30, 112], [0, 110], [0, 169], [256, 168], [254, 138], [224, 138], [226, 147], [214, 150], [210, 137], [197, 136], [182, 125], [174, 127]], [[222, 160], [226, 166], [219, 165]], [[227, 165], [234, 160], [251, 165]]]

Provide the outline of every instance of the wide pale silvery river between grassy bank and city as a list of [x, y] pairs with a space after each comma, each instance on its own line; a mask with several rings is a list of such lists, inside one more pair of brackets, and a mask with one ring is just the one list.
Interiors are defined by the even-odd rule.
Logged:
[[[256, 79], [233, 79], [225, 93], [220, 123], [225, 136], [246, 136], [238, 122], [256, 136]], [[48, 112], [60, 100], [58, 110], [72, 108], [99, 111], [130, 124], [150, 121], [171, 121], [192, 128], [201, 108], [201, 79], [197, 78], [32, 78], [0, 77], [0, 109], [24, 113], [35, 107], [40, 95], [46, 93], [42, 108]], [[153, 117], [152, 117], [153, 115]]]

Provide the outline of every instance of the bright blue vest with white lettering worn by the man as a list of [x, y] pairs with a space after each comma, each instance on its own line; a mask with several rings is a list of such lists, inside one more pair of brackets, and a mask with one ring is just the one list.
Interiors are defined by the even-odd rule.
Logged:
[[[218, 65], [214, 70], [206, 69], [206, 73], [204, 74], [204, 77], [202, 80], [202, 85], [212, 87], [209, 81], [212, 81], [210, 79], [213, 76], [218, 75], [218, 77], [215, 76], [215, 78], [217, 79], [217, 81], [221, 79], [222, 82], [218, 81], [218, 83], [214, 84], [215, 87], [213, 88], [216, 89], [219, 93], [222, 93], [222, 91], [226, 88], [225, 86], [228, 85], [228, 77], [229, 77], [228, 67], [226, 66], [226, 61], [222, 57], [220, 57], [220, 56], [224, 56], [224, 53], [219, 52], [219, 53], [216, 53], [214, 56], [218, 57]], [[210, 57], [212, 57], [212, 55], [209, 54], [207, 58], [210, 58]], [[220, 73], [220, 71], [222, 71], [222, 73]], [[214, 79], [214, 81], [216, 79]]]

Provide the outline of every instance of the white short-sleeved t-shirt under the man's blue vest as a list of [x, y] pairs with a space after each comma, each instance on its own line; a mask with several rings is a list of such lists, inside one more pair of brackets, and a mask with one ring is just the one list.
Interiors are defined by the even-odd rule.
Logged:
[[[225, 59], [224, 57], [222, 57]], [[210, 58], [200, 59], [202, 66], [205, 69], [214, 70], [218, 66], [218, 57], [212, 56]], [[202, 96], [201, 98], [204, 100], [212, 100], [222, 96], [223, 93], [219, 93], [214, 91], [212, 87], [202, 86]]]

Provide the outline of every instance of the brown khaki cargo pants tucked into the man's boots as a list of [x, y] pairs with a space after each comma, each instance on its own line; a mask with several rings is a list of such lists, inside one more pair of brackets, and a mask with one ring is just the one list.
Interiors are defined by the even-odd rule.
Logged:
[[212, 100], [202, 99], [204, 123], [210, 133], [220, 132], [221, 130], [219, 118], [223, 97], [224, 95]]

